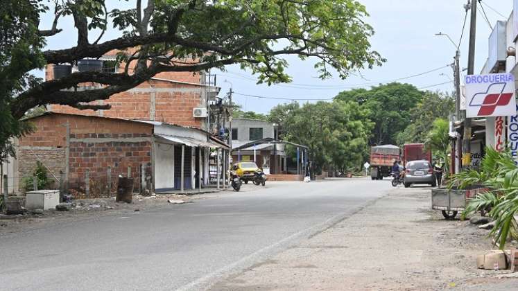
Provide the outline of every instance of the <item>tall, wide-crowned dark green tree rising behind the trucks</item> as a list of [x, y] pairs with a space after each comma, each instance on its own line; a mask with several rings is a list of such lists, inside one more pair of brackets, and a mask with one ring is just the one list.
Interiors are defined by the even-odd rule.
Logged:
[[371, 89], [343, 91], [336, 100], [354, 101], [369, 109], [374, 122], [370, 145], [397, 143], [397, 134], [411, 123], [411, 109], [422, 100], [415, 86], [393, 82]]

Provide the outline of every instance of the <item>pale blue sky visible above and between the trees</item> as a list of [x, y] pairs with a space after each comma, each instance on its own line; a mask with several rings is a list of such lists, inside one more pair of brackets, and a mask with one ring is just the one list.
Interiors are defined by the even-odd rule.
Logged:
[[[512, 1], [483, 0], [478, 6], [484, 8], [487, 19], [491, 26], [494, 26], [498, 20], [507, 20], [512, 12]], [[124, 1], [107, 0], [106, 2], [112, 4], [112, 8], [116, 6], [128, 8], [130, 5]], [[227, 66], [225, 72], [211, 71], [211, 74], [216, 74], [216, 85], [221, 87], [220, 95], [224, 96], [232, 86], [235, 92], [233, 101], [241, 105], [243, 110], [267, 113], [275, 105], [292, 102], [292, 99], [326, 100], [333, 98], [340, 91], [359, 87], [369, 88], [401, 78], [404, 79], [399, 82], [407, 82], [417, 88], [454, 91], [454, 84], [450, 82], [453, 79], [453, 71], [447, 65], [453, 62], [456, 48], [447, 37], [435, 36], [435, 34], [446, 33], [454, 42], [459, 41], [465, 18], [464, 5], [467, 0], [359, 0], [359, 2], [367, 8], [370, 17], [366, 21], [375, 31], [370, 39], [372, 50], [378, 51], [383, 58], [387, 59], [381, 67], [362, 70], [361, 74], [355, 73], [356, 76], [350, 76], [346, 80], [341, 80], [336, 74], [331, 79], [320, 80], [316, 78], [318, 73], [313, 68], [313, 60], [302, 61], [291, 56], [286, 60], [289, 63], [287, 72], [293, 78], [293, 82], [268, 86], [257, 85], [255, 76], [248, 71], [242, 71], [239, 66]], [[41, 28], [49, 26], [52, 20], [53, 15], [46, 15], [42, 19]], [[482, 10], [479, 10], [476, 24], [475, 73], [481, 71], [487, 59], [487, 38], [492, 30], [490, 24], [484, 19]], [[71, 18], [60, 21], [58, 27], [64, 28], [64, 31], [49, 37], [46, 48], [74, 46], [76, 34]], [[101, 42], [117, 35], [116, 30], [109, 30]], [[91, 35], [90, 38], [93, 42], [96, 35]], [[469, 13], [460, 43], [461, 68], [467, 67], [468, 39]], [[432, 72], [424, 73], [429, 71]], [[420, 73], [424, 74], [406, 78]], [[42, 76], [42, 73], [39, 74]], [[444, 82], [448, 83], [437, 85]], [[299, 102], [314, 101], [300, 100]]]

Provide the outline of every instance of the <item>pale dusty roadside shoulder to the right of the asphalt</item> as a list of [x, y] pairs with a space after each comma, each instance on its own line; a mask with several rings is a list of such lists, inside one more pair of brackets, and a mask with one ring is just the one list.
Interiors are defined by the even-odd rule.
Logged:
[[518, 286], [518, 281], [512, 281], [516, 279], [495, 281], [508, 271], [476, 269], [476, 255], [491, 249], [487, 232], [468, 222], [444, 220], [429, 209], [430, 188], [395, 188], [350, 218], [234, 274], [212, 290], [487, 290], [483, 286], [492, 283]]

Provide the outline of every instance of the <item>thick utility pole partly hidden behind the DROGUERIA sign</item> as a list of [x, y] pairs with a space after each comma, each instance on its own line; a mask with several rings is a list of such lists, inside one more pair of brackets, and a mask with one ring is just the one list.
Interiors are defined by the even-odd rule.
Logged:
[[[474, 74], [475, 67], [475, 40], [476, 40], [476, 3], [477, 0], [471, 1], [471, 21], [469, 23], [469, 51], [467, 54], [467, 74]], [[469, 5], [469, 3], [468, 3]], [[472, 121], [471, 118], [464, 119], [464, 143], [463, 166], [467, 167], [471, 164], [471, 137], [472, 137]]]

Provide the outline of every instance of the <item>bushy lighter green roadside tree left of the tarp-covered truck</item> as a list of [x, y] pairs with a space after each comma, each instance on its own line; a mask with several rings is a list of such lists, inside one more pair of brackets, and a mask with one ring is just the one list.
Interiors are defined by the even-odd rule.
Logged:
[[354, 102], [308, 103], [287, 114], [284, 139], [307, 145], [317, 170], [345, 172], [363, 162], [372, 130], [368, 115], [367, 109]]

